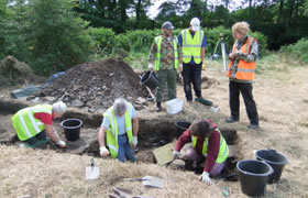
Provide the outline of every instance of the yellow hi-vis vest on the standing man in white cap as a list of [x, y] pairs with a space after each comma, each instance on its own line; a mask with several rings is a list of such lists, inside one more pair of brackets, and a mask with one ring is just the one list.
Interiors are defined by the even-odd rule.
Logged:
[[191, 37], [189, 29], [183, 30], [180, 34], [183, 37], [183, 62], [188, 64], [193, 56], [196, 64], [201, 63], [201, 46], [205, 35], [204, 31], [197, 31], [194, 35], [194, 38]]

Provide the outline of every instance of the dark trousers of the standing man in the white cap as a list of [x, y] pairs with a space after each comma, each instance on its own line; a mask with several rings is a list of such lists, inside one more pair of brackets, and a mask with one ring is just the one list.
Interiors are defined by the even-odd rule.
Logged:
[[184, 91], [187, 101], [193, 100], [191, 82], [196, 97], [201, 97], [201, 69], [202, 62], [200, 64], [183, 64], [182, 76], [184, 79]]

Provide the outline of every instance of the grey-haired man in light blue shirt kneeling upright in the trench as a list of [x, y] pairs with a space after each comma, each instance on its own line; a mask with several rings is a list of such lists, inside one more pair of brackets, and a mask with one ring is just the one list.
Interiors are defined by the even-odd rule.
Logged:
[[[132, 148], [138, 144], [139, 119], [134, 107], [125, 99], [117, 99], [112, 107], [105, 113], [100, 130], [98, 132], [98, 142], [100, 155], [106, 157], [111, 155], [121, 162], [125, 160], [135, 162], [134, 151]], [[105, 145], [105, 133], [107, 134], [107, 150]]]

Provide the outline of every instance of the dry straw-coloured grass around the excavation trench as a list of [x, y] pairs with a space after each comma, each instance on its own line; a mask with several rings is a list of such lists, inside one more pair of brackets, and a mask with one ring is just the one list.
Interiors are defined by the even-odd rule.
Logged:
[[[228, 78], [221, 72], [220, 62], [207, 62], [202, 76], [213, 80], [208, 89], [202, 89], [205, 98], [219, 106], [220, 112], [213, 114], [201, 105], [185, 103], [185, 111], [177, 117], [194, 120], [210, 117], [220, 128], [232, 128], [238, 131], [240, 158], [255, 158], [254, 151], [275, 148], [285, 154], [289, 163], [285, 166], [280, 182], [267, 185], [265, 197], [307, 197], [308, 195], [308, 67], [297, 62], [261, 59], [254, 86], [254, 98], [260, 114], [261, 129], [246, 129], [243, 101], [241, 101], [241, 120], [227, 124], [229, 116]], [[280, 57], [279, 57], [280, 58]], [[296, 67], [295, 67], [296, 66]], [[271, 69], [270, 69], [271, 68]], [[183, 87], [178, 86], [178, 98], [184, 99]], [[158, 114], [165, 114], [162, 112]], [[140, 117], [154, 113], [154, 103], [150, 113], [141, 112]], [[186, 198], [186, 197], [223, 197], [222, 187], [228, 186], [230, 197], [245, 197], [240, 183], [215, 180], [207, 186], [198, 176], [154, 164], [121, 164], [112, 160], [97, 158], [101, 175], [97, 180], [85, 179], [85, 167], [90, 156], [79, 156], [18, 148], [0, 145], [0, 197], [33, 195], [33, 197], [108, 197], [112, 187], [131, 188], [134, 195]], [[164, 179], [163, 189], [145, 188], [140, 183], [123, 182], [123, 178], [138, 178], [144, 175], [158, 176]]]

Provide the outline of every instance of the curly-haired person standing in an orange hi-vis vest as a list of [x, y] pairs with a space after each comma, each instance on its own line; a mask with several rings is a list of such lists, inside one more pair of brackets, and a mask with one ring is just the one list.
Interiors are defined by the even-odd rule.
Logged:
[[246, 22], [238, 22], [232, 26], [235, 43], [232, 53], [229, 54], [230, 65], [227, 76], [229, 82], [229, 103], [231, 116], [228, 123], [240, 120], [240, 92], [244, 99], [246, 113], [250, 119], [249, 129], [258, 129], [258, 116], [252, 96], [252, 84], [256, 61], [258, 57], [257, 41], [248, 35], [250, 26]]

